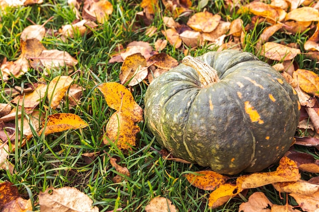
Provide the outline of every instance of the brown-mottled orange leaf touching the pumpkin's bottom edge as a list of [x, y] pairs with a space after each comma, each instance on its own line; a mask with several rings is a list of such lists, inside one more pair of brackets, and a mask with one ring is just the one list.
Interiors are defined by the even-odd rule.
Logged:
[[226, 183], [229, 177], [216, 173], [215, 171], [198, 171], [196, 174], [185, 174], [187, 180], [195, 187], [213, 191]]

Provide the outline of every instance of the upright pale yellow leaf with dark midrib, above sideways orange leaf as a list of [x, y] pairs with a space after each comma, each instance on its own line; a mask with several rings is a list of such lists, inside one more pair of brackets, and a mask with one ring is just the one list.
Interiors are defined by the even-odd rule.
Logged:
[[58, 76], [49, 83], [47, 98], [51, 101], [50, 107], [52, 109], [57, 108], [61, 100], [63, 99], [65, 92], [73, 82], [73, 79], [69, 76]]

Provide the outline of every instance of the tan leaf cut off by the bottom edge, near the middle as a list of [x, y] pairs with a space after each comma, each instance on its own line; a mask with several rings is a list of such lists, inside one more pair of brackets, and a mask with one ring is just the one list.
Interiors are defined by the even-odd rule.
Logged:
[[146, 212], [176, 212], [171, 200], [165, 197], [155, 197], [145, 207]]

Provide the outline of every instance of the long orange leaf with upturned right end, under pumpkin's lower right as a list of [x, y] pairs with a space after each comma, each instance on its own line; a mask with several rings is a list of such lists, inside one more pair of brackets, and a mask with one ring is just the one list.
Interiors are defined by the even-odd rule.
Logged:
[[240, 176], [236, 183], [241, 189], [252, 189], [278, 182], [297, 181], [298, 179], [300, 179], [300, 174], [297, 164], [293, 160], [283, 157], [276, 171]]

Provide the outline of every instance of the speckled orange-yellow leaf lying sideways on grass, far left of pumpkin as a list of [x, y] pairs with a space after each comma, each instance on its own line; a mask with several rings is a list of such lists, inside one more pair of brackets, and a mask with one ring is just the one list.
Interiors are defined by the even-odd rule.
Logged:
[[42, 134], [43, 131], [45, 135], [48, 135], [65, 130], [85, 128], [87, 126], [88, 124], [78, 115], [73, 113], [56, 113], [49, 115], [46, 123], [45, 120], [42, 121], [42, 129], [39, 131], [39, 135]]

